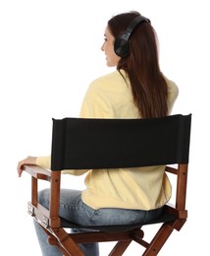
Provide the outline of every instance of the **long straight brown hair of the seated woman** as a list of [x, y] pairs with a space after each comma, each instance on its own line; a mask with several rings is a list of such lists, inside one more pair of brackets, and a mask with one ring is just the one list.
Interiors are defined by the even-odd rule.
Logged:
[[[140, 14], [123, 13], [108, 22], [115, 38], [126, 31], [131, 21]], [[150, 23], [143, 22], [131, 33], [130, 54], [120, 59], [117, 69], [125, 70], [131, 82], [133, 102], [141, 117], [161, 117], [168, 114], [167, 83], [160, 71], [157, 36]]]

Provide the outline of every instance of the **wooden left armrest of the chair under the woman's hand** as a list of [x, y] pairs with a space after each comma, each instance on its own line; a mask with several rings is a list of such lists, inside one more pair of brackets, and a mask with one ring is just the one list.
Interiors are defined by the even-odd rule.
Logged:
[[50, 181], [51, 171], [37, 165], [24, 165], [24, 170], [36, 179]]

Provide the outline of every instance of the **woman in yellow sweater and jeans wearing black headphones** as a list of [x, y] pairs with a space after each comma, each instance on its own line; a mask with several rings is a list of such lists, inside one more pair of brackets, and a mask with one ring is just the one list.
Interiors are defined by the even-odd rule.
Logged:
[[[80, 117], [150, 118], [170, 114], [178, 88], [160, 71], [156, 34], [150, 21], [137, 12], [123, 13], [108, 21], [104, 36], [101, 49], [107, 66], [117, 69], [90, 84]], [[19, 176], [23, 164], [50, 168], [50, 157], [21, 160]], [[171, 197], [163, 166], [62, 172], [86, 172], [85, 190], [61, 190], [60, 216], [78, 224], [143, 224], [157, 218]], [[39, 203], [48, 207], [48, 197], [48, 189], [40, 191]], [[41, 228], [35, 227], [43, 255], [62, 255], [47, 243]], [[99, 255], [98, 244], [80, 247], [85, 255]]]

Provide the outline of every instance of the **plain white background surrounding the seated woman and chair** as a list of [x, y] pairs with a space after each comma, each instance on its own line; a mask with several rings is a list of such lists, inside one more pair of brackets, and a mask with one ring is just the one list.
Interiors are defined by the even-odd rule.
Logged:
[[[89, 83], [111, 72], [100, 50], [113, 14], [137, 10], [151, 20], [160, 42], [160, 65], [180, 88], [173, 113], [192, 113], [188, 221], [160, 255], [208, 251], [209, 222], [209, 8], [207, 0], [0, 1], [0, 254], [39, 256], [31, 218], [29, 176], [18, 160], [50, 154], [51, 118], [79, 115]], [[83, 177], [65, 176], [82, 188]], [[103, 244], [106, 256], [109, 244]], [[139, 250], [137, 252], [137, 250]], [[14, 252], [15, 251], [15, 252]], [[125, 255], [140, 255], [131, 244]], [[132, 253], [132, 254], [131, 254]], [[204, 253], [204, 255], [206, 255]]]

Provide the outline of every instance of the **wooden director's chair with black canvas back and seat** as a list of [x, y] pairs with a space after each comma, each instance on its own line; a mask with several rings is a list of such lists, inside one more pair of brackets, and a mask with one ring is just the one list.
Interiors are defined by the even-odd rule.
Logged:
[[[123, 255], [131, 241], [143, 246], [142, 255], [157, 255], [173, 230], [180, 230], [186, 222], [190, 124], [191, 114], [151, 119], [53, 119], [51, 171], [34, 165], [25, 166], [31, 175], [28, 213], [48, 234], [48, 242], [58, 246], [64, 255], [84, 255], [79, 243], [109, 241], [116, 241], [109, 255]], [[62, 169], [159, 164], [166, 165], [166, 171], [176, 176], [176, 187], [173, 188], [176, 198], [174, 205], [170, 202], [164, 206], [157, 220], [146, 223], [154, 226], [150, 241], [144, 240], [145, 224], [80, 226], [59, 217]], [[50, 182], [49, 210], [37, 203], [39, 179]], [[88, 231], [69, 233], [69, 227], [88, 228]]]

